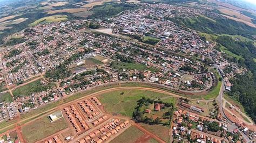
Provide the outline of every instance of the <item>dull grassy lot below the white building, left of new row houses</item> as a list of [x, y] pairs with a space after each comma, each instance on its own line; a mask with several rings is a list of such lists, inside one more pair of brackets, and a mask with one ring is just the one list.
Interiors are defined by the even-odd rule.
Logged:
[[67, 127], [68, 125], [64, 118], [51, 123], [48, 117], [45, 116], [23, 126], [21, 130], [27, 142], [35, 142]]

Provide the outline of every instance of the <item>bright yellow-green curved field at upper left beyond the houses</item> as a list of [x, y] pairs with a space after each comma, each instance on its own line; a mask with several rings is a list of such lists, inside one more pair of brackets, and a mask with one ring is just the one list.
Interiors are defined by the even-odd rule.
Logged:
[[36, 20], [35, 22], [29, 24], [29, 26], [36, 26], [39, 23], [51, 23], [51, 22], [60, 22], [63, 20], [67, 20], [68, 16], [66, 15], [54, 15], [54, 16], [49, 16], [49, 17], [43, 17], [40, 18], [38, 20]]

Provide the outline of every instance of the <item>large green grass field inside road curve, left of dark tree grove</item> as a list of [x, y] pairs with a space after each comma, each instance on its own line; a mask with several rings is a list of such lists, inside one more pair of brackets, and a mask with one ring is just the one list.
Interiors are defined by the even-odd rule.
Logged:
[[[124, 94], [121, 95], [121, 92], [124, 92]], [[100, 95], [99, 100], [103, 103], [104, 109], [107, 112], [113, 115], [132, 117], [134, 108], [137, 106], [137, 101], [143, 96], [157, 99], [169, 95], [145, 90], [117, 90]]]

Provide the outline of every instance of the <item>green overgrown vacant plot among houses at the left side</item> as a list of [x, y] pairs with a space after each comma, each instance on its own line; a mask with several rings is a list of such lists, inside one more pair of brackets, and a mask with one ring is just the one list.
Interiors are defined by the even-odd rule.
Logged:
[[22, 87], [18, 87], [13, 91], [13, 94], [15, 97], [29, 96], [36, 92], [52, 89], [53, 87], [55, 87], [55, 84], [52, 84], [52, 83], [43, 84], [41, 80], [37, 80], [29, 84], [23, 85]]

